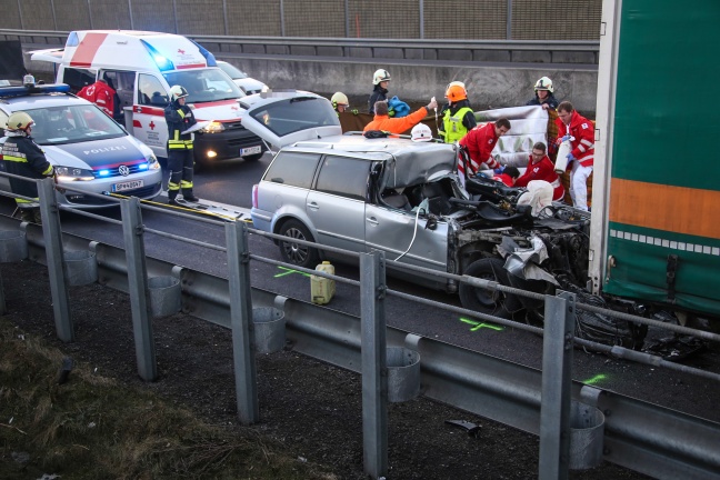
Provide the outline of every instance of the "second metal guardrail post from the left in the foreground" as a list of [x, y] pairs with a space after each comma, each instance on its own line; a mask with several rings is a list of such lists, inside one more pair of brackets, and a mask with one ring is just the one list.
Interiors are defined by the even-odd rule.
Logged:
[[158, 377], [152, 321], [148, 301], [148, 268], [146, 266], [142, 216], [140, 200], [132, 197], [120, 202], [122, 212], [122, 238], [128, 263], [128, 292], [132, 311], [132, 333], [140, 378], [152, 381]]

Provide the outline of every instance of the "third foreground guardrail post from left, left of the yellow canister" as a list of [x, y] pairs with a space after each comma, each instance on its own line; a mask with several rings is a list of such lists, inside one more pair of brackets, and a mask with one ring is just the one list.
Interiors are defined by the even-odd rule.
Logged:
[[230, 287], [230, 328], [232, 358], [238, 398], [238, 419], [243, 424], [260, 419], [256, 378], [254, 342], [252, 340], [252, 298], [250, 293], [250, 249], [248, 224], [226, 224], [228, 247], [228, 284]]

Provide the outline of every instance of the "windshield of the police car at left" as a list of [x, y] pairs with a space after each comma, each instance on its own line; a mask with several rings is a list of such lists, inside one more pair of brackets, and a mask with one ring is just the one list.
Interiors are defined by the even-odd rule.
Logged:
[[34, 121], [31, 134], [39, 144], [78, 143], [127, 134], [93, 104], [46, 107], [26, 111]]

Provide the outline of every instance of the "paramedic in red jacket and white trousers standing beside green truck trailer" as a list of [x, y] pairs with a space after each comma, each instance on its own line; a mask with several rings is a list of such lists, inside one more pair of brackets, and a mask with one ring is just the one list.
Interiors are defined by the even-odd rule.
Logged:
[[588, 210], [588, 177], [592, 173], [594, 159], [594, 126], [580, 116], [572, 103], [564, 101], [558, 106], [558, 140], [570, 138], [572, 151], [568, 154], [570, 168], [570, 197], [572, 204], [580, 210]]

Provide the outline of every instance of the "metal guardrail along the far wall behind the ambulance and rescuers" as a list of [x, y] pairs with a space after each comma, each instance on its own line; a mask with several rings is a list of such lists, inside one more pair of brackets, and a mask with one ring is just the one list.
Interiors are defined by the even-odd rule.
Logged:
[[[48, 48], [64, 46], [68, 31], [0, 29], [0, 38]], [[216, 54], [303, 56], [423, 61], [501, 61], [597, 64], [600, 42], [592, 40], [419, 40], [304, 37], [193, 36]]]

